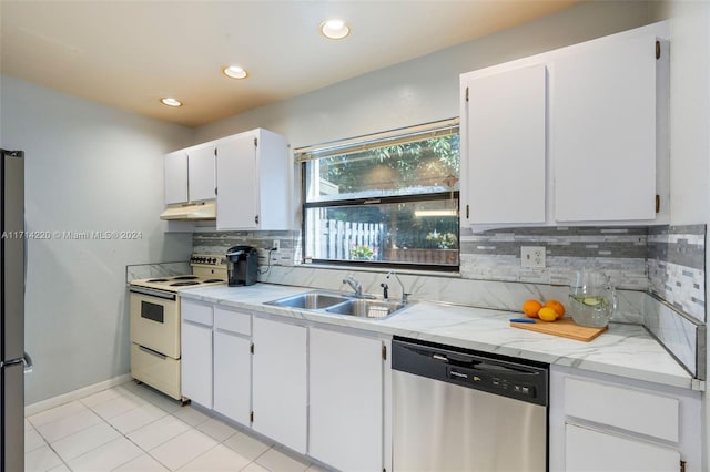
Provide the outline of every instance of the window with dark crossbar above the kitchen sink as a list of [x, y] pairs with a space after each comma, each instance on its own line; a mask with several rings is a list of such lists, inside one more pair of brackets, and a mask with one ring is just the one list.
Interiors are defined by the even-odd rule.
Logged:
[[458, 143], [448, 120], [296, 150], [306, 260], [457, 270]]

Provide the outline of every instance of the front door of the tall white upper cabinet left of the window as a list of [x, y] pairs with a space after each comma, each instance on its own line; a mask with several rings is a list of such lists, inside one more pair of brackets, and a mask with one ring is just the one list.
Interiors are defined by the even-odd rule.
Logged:
[[217, 229], [258, 227], [256, 133], [217, 144]]

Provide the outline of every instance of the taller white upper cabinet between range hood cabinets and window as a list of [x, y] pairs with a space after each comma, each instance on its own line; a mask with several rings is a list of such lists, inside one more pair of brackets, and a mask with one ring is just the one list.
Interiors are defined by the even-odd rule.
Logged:
[[286, 138], [254, 130], [217, 141], [217, 229], [288, 229]]

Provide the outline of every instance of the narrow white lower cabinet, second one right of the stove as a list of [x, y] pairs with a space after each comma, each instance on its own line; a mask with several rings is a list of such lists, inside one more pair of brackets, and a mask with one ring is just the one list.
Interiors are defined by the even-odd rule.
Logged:
[[214, 308], [214, 411], [248, 425], [252, 402], [251, 314]]

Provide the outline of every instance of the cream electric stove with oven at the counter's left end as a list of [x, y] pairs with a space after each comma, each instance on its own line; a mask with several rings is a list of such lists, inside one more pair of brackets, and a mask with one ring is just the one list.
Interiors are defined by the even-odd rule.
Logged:
[[132, 280], [131, 376], [183, 400], [181, 392], [180, 291], [226, 284], [224, 256], [195, 254], [192, 274]]

